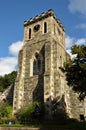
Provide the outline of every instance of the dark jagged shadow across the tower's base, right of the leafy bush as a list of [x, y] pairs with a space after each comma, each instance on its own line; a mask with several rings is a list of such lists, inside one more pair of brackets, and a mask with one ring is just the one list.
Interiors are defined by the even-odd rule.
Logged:
[[[49, 109], [50, 108], [50, 109]], [[51, 119], [58, 122], [64, 122], [68, 118], [66, 113], [66, 103], [64, 100], [64, 95], [59, 99], [59, 97], [48, 98], [48, 101], [45, 103], [45, 115], [47, 119]]]

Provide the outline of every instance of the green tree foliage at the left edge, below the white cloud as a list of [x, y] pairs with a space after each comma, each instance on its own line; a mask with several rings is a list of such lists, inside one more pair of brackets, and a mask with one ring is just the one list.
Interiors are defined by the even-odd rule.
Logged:
[[4, 76], [0, 76], [0, 91], [4, 91], [8, 86], [15, 82], [15, 78], [17, 75], [17, 71], [13, 71], [9, 74], [5, 74]]

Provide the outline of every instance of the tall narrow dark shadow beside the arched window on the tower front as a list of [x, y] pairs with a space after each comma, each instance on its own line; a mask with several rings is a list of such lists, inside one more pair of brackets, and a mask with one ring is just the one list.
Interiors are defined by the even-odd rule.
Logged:
[[[45, 45], [39, 52], [39, 55], [42, 56], [41, 68], [38, 75], [38, 83], [33, 91], [33, 102], [42, 102], [44, 103], [44, 72], [45, 72]], [[38, 67], [40, 65], [38, 64]], [[36, 76], [36, 74], [34, 75]]]

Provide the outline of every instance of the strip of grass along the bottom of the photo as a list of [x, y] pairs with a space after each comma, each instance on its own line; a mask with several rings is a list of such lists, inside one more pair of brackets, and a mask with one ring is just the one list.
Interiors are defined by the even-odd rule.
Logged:
[[59, 128], [59, 129], [70, 129], [70, 130], [86, 130], [86, 122], [73, 122], [73, 121], [68, 121], [68, 122], [54, 122], [54, 121], [45, 121], [41, 124], [0, 124], [0, 127], [28, 127], [28, 128]]

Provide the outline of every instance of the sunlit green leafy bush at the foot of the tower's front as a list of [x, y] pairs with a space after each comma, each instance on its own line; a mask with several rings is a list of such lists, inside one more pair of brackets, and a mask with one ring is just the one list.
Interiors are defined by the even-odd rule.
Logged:
[[[40, 113], [39, 115], [36, 115], [35, 108], [36, 106], [39, 107]], [[17, 119], [20, 121], [20, 123], [25, 122], [34, 122], [35, 120], [39, 120], [43, 118], [44, 113], [44, 107], [41, 103], [33, 102], [25, 109], [22, 108], [18, 113], [16, 114]]]

